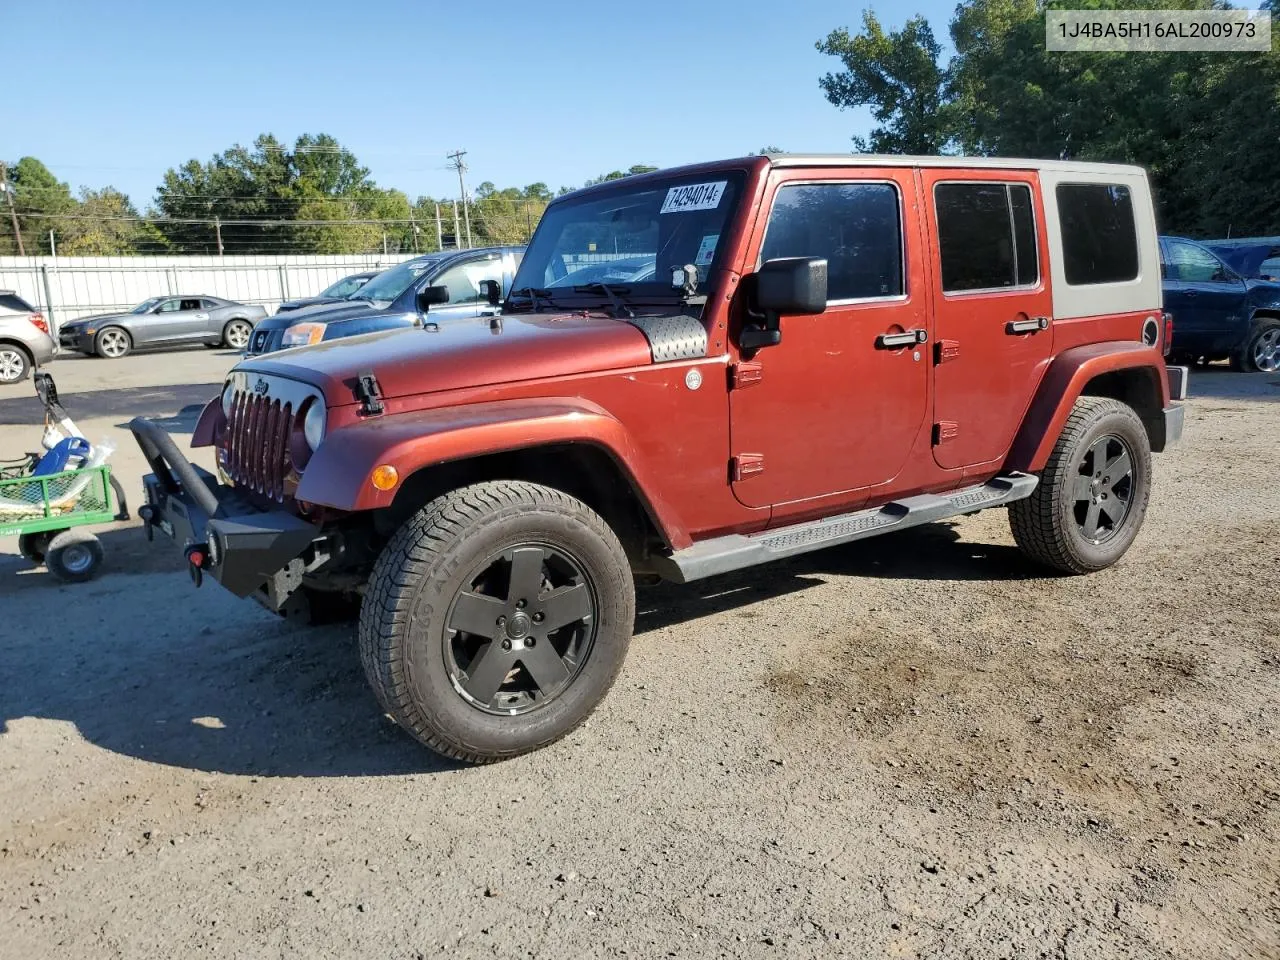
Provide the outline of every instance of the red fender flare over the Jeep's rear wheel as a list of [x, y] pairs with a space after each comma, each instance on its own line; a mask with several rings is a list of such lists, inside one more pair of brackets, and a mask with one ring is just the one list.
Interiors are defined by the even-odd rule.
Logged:
[[1161, 352], [1133, 340], [1091, 343], [1062, 351], [1050, 364], [1023, 417], [1005, 467], [1025, 472], [1043, 470], [1075, 401], [1092, 392], [1091, 381], [1121, 371], [1132, 371], [1134, 385], [1140, 387], [1143, 396], [1152, 401], [1155, 408], [1138, 410], [1138, 416], [1153, 435], [1152, 449], [1164, 449], [1162, 411], [1169, 406], [1169, 379]]

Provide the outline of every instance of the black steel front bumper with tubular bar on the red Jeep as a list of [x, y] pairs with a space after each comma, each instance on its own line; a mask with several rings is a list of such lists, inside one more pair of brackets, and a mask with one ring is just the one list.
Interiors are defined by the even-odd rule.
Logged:
[[301, 584], [300, 558], [320, 529], [285, 511], [262, 511], [187, 460], [173, 438], [143, 417], [129, 422], [152, 472], [142, 479], [138, 516], [183, 547], [192, 579], [211, 576], [237, 596], [259, 593], [280, 609]]

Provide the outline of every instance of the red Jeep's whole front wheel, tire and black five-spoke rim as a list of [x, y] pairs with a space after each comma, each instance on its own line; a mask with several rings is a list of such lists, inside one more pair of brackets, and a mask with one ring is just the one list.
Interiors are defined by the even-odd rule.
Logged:
[[383, 709], [433, 750], [489, 763], [559, 740], [626, 657], [635, 586], [586, 504], [524, 481], [433, 500], [392, 538], [360, 612]]

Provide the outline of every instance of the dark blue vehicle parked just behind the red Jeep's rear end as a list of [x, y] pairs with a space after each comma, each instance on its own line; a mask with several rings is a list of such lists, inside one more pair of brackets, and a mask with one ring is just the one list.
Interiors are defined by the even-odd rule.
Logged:
[[1160, 238], [1165, 311], [1178, 361], [1229, 360], [1233, 370], [1280, 370], [1280, 283], [1242, 276], [1203, 243]]

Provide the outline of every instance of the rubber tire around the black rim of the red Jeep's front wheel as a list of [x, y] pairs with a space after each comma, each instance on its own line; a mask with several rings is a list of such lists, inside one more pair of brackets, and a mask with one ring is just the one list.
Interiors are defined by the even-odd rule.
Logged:
[[[534, 700], [524, 712], [486, 709], [463, 692], [468, 677], [460, 673], [454, 644], [470, 635], [448, 626], [451, 612], [463, 593], [476, 590], [474, 577], [488, 575], [503, 563], [494, 558], [508, 554], [511, 603], [516, 552], [536, 549], [571, 558], [588, 588], [590, 612], [573, 627], [582, 631], [575, 634], [577, 663], [547, 700]], [[490, 559], [493, 567], [486, 566]], [[538, 567], [539, 584], [545, 570]], [[540, 590], [532, 591], [530, 609], [550, 598]], [[538, 616], [532, 613], [535, 621]], [[490, 763], [547, 746], [582, 723], [613, 686], [634, 622], [631, 570], [608, 524], [561, 490], [499, 480], [436, 498], [390, 539], [361, 607], [360, 653], [379, 703], [399, 726], [445, 756]], [[504, 636], [499, 632], [492, 643], [512, 643], [499, 639]], [[556, 648], [544, 637], [540, 653], [548, 649]], [[512, 676], [518, 681], [518, 669], [506, 675], [499, 690]]]

